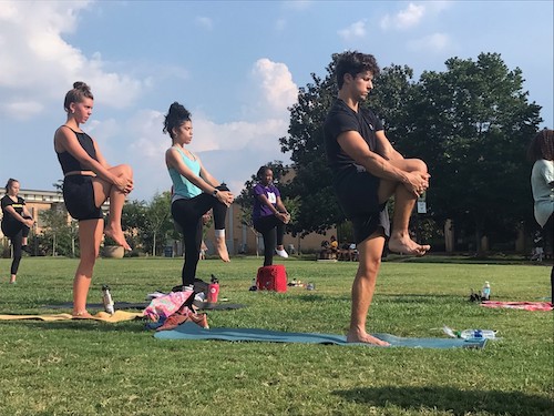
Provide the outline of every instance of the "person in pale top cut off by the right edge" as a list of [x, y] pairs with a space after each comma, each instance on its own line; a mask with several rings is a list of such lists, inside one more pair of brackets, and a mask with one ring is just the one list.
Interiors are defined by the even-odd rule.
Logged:
[[[543, 230], [546, 245], [554, 250], [554, 130], [545, 129], [533, 138], [527, 158], [533, 162], [531, 189], [535, 220]], [[551, 271], [551, 302], [554, 303], [554, 265]]]

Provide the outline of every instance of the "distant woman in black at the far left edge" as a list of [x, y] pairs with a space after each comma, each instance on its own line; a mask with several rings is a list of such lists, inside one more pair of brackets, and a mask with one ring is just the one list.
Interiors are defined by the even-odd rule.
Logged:
[[30, 252], [27, 240], [34, 221], [25, 206], [25, 201], [19, 196], [20, 184], [14, 179], [9, 179], [6, 184], [6, 195], [2, 204], [2, 233], [10, 239], [13, 257], [10, 267], [10, 283], [14, 284], [18, 275], [22, 252]]

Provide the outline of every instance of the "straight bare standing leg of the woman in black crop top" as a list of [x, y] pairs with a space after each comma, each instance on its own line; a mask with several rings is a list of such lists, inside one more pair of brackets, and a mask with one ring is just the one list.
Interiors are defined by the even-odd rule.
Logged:
[[91, 317], [91, 314], [86, 311], [86, 297], [89, 295], [94, 263], [100, 253], [103, 225], [103, 220], [88, 220], [79, 223], [81, 260], [73, 280], [73, 317]]

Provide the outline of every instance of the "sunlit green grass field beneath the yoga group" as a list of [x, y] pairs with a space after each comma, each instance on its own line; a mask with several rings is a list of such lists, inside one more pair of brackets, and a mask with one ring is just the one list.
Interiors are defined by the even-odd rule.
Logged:
[[[220, 297], [247, 305], [209, 312], [212, 327], [345, 334], [356, 263], [289, 258], [285, 294], [248, 292], [259, 258], [202, 261]], [[0, 260], [0, 314], [70, 312], [75, 260], [24, 257], [18, 283]], [[89, 302], [143, 302], [179, 283], [179, 258], [99, 260]], [[468, 302], [484, 281], [499, 301], [550, 295], [550, 268], [530, 264], [384, 262], [369, 329], [443, 337], [497, 329], [475, 349], [158, 341], [144, 322], [0, 322], [0, 415], [517, 415], [552, 416], [553, 313]], [[95, 312], [91, 310], [91, 312]]]

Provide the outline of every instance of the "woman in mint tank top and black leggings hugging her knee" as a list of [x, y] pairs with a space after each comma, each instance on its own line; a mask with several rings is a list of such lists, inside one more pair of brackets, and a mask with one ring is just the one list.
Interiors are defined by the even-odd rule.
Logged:
[[173, 182], [172, 216], [183, 233], [185, 262], [182, 271], [183, 286], [193, 286], [196, 278], [202, 246], [202, 217], [213, 212], [215, 250], [224, 262], [229, 262], [225, 243], [225, 219], [234, 196], [228, 187], [217, 181], [202, 164], [198, 155], [186, 146], [193, 140], [191, 113], [178, 102], [165, 115], [164, 133], [170, 134], [172, 146], [165, 152], [165, 164]]

